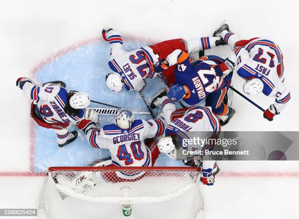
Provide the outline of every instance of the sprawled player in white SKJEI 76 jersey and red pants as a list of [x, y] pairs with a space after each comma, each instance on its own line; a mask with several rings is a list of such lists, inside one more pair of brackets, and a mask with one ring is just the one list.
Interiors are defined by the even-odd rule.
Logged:
[[[123, 49], [123, 38], [115, 30], [104, 29], [103, 38], [110, 44], [108, 64], [115, 72], [106, 76], [106, 82], [108, 88], [115, 92], [122, 91], [124, 86], [128, 91], [142, 90], [146, 85], [146, 78], [152, 79], [158, 75], [154, 72], [153, 64], [165, 59], [175, 49], [191, 54], [225, 44], [220, 37], [202, 37], [196, 40], [175, 39], [127, 52]], [[173, 72], [174, 67], [163, 72], [169, 84], [173, 82]]]

